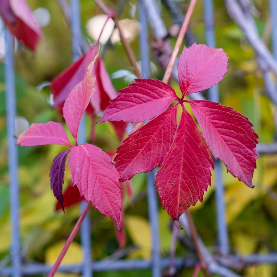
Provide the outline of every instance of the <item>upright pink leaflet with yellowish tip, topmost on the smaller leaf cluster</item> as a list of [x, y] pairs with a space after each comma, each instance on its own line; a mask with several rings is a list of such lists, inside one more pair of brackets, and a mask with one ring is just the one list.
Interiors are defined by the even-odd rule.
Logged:
[[66, 125], [73, 135], [76, 144], [78, 144], [78, 128], [89, 100], [93, 95], [94, 81], [89, 72], [83, 81], [75, 86], [75, 88], [68, 95], [63, 106], [63, 117], [65, 118]]

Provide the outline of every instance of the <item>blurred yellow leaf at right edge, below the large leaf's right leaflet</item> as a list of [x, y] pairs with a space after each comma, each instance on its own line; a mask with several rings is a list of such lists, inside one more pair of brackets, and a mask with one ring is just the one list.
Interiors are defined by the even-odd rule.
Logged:
[[266, 194], [277, 182], [277, 155], [263, 156], [257, 160], [257, 169], [254, 171], [253, 185], [248, 188], [236, 179], [225, 191], [227, 222], [232, 222], [243, 211], [245, 206], [258, 197]]

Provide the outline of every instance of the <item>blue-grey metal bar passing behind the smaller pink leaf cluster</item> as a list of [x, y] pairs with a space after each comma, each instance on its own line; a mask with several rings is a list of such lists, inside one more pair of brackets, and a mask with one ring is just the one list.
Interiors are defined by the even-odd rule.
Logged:
[[[80, 41], [81, 41], [81, 28], [80, 28], [80, 7], [79, 0], [70, 1], [71, 8], [71, 36], [72, 36], [72, 53], [73, 60], [77, 60], [80, 57]], [[85, 116], [82, 117], [79, 132], [78, 132], [78, 143], [86, 142], [86, 132], [85, 132]], [[81, 203], [81, 210], [86, 206], [86, 202]], [[81, 244], [83, 248], [83, 276], [91, 277], [93, 276], [93, 270], [91, 267], [92, 261], [92, 249], [91, 249], [91, 230], [90, 230], [90, 218], [89, 214], [85, 217], [81, 225]]]

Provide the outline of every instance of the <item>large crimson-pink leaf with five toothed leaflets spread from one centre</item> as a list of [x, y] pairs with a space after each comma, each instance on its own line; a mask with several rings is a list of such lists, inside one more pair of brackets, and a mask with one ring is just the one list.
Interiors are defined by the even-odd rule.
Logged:
[[[187, 94], [217, 84], [227, 71], [227, 62], [222, 49], [196, 43], [185, 47], [178, 66], [181, 98], [159, 80], [138, 79], [119, 91], [98, 121], [139, 123], [152, 119], [124, 140], [114, 161], [122, 181], [162, 165], [155, 185], [164, 209], [177, 226], [181, 214], [202, 201], [211, 185], [214, 165], [210, 151], [224, 162], [227, 171], [253, 188], [258, 136], [252, 123], [219, 103], [184, 100]], [[168, 108], [175, 100], [178, 103]], [[204, 137], [184, 102], [191, 105]], [[183, 112], [176, 127], [179, 104]]]

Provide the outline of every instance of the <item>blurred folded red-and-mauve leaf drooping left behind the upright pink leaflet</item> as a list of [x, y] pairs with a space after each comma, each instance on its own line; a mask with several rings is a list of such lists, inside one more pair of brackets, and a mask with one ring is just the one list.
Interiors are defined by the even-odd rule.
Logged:
[[95, 45], [89, 47], [85, 55], [52, 81], [50, 90], [54, 95], [54, 107], [63, 103], [70, 91], [85, 78], [88, 66], [97, 52], [98, 48]]

